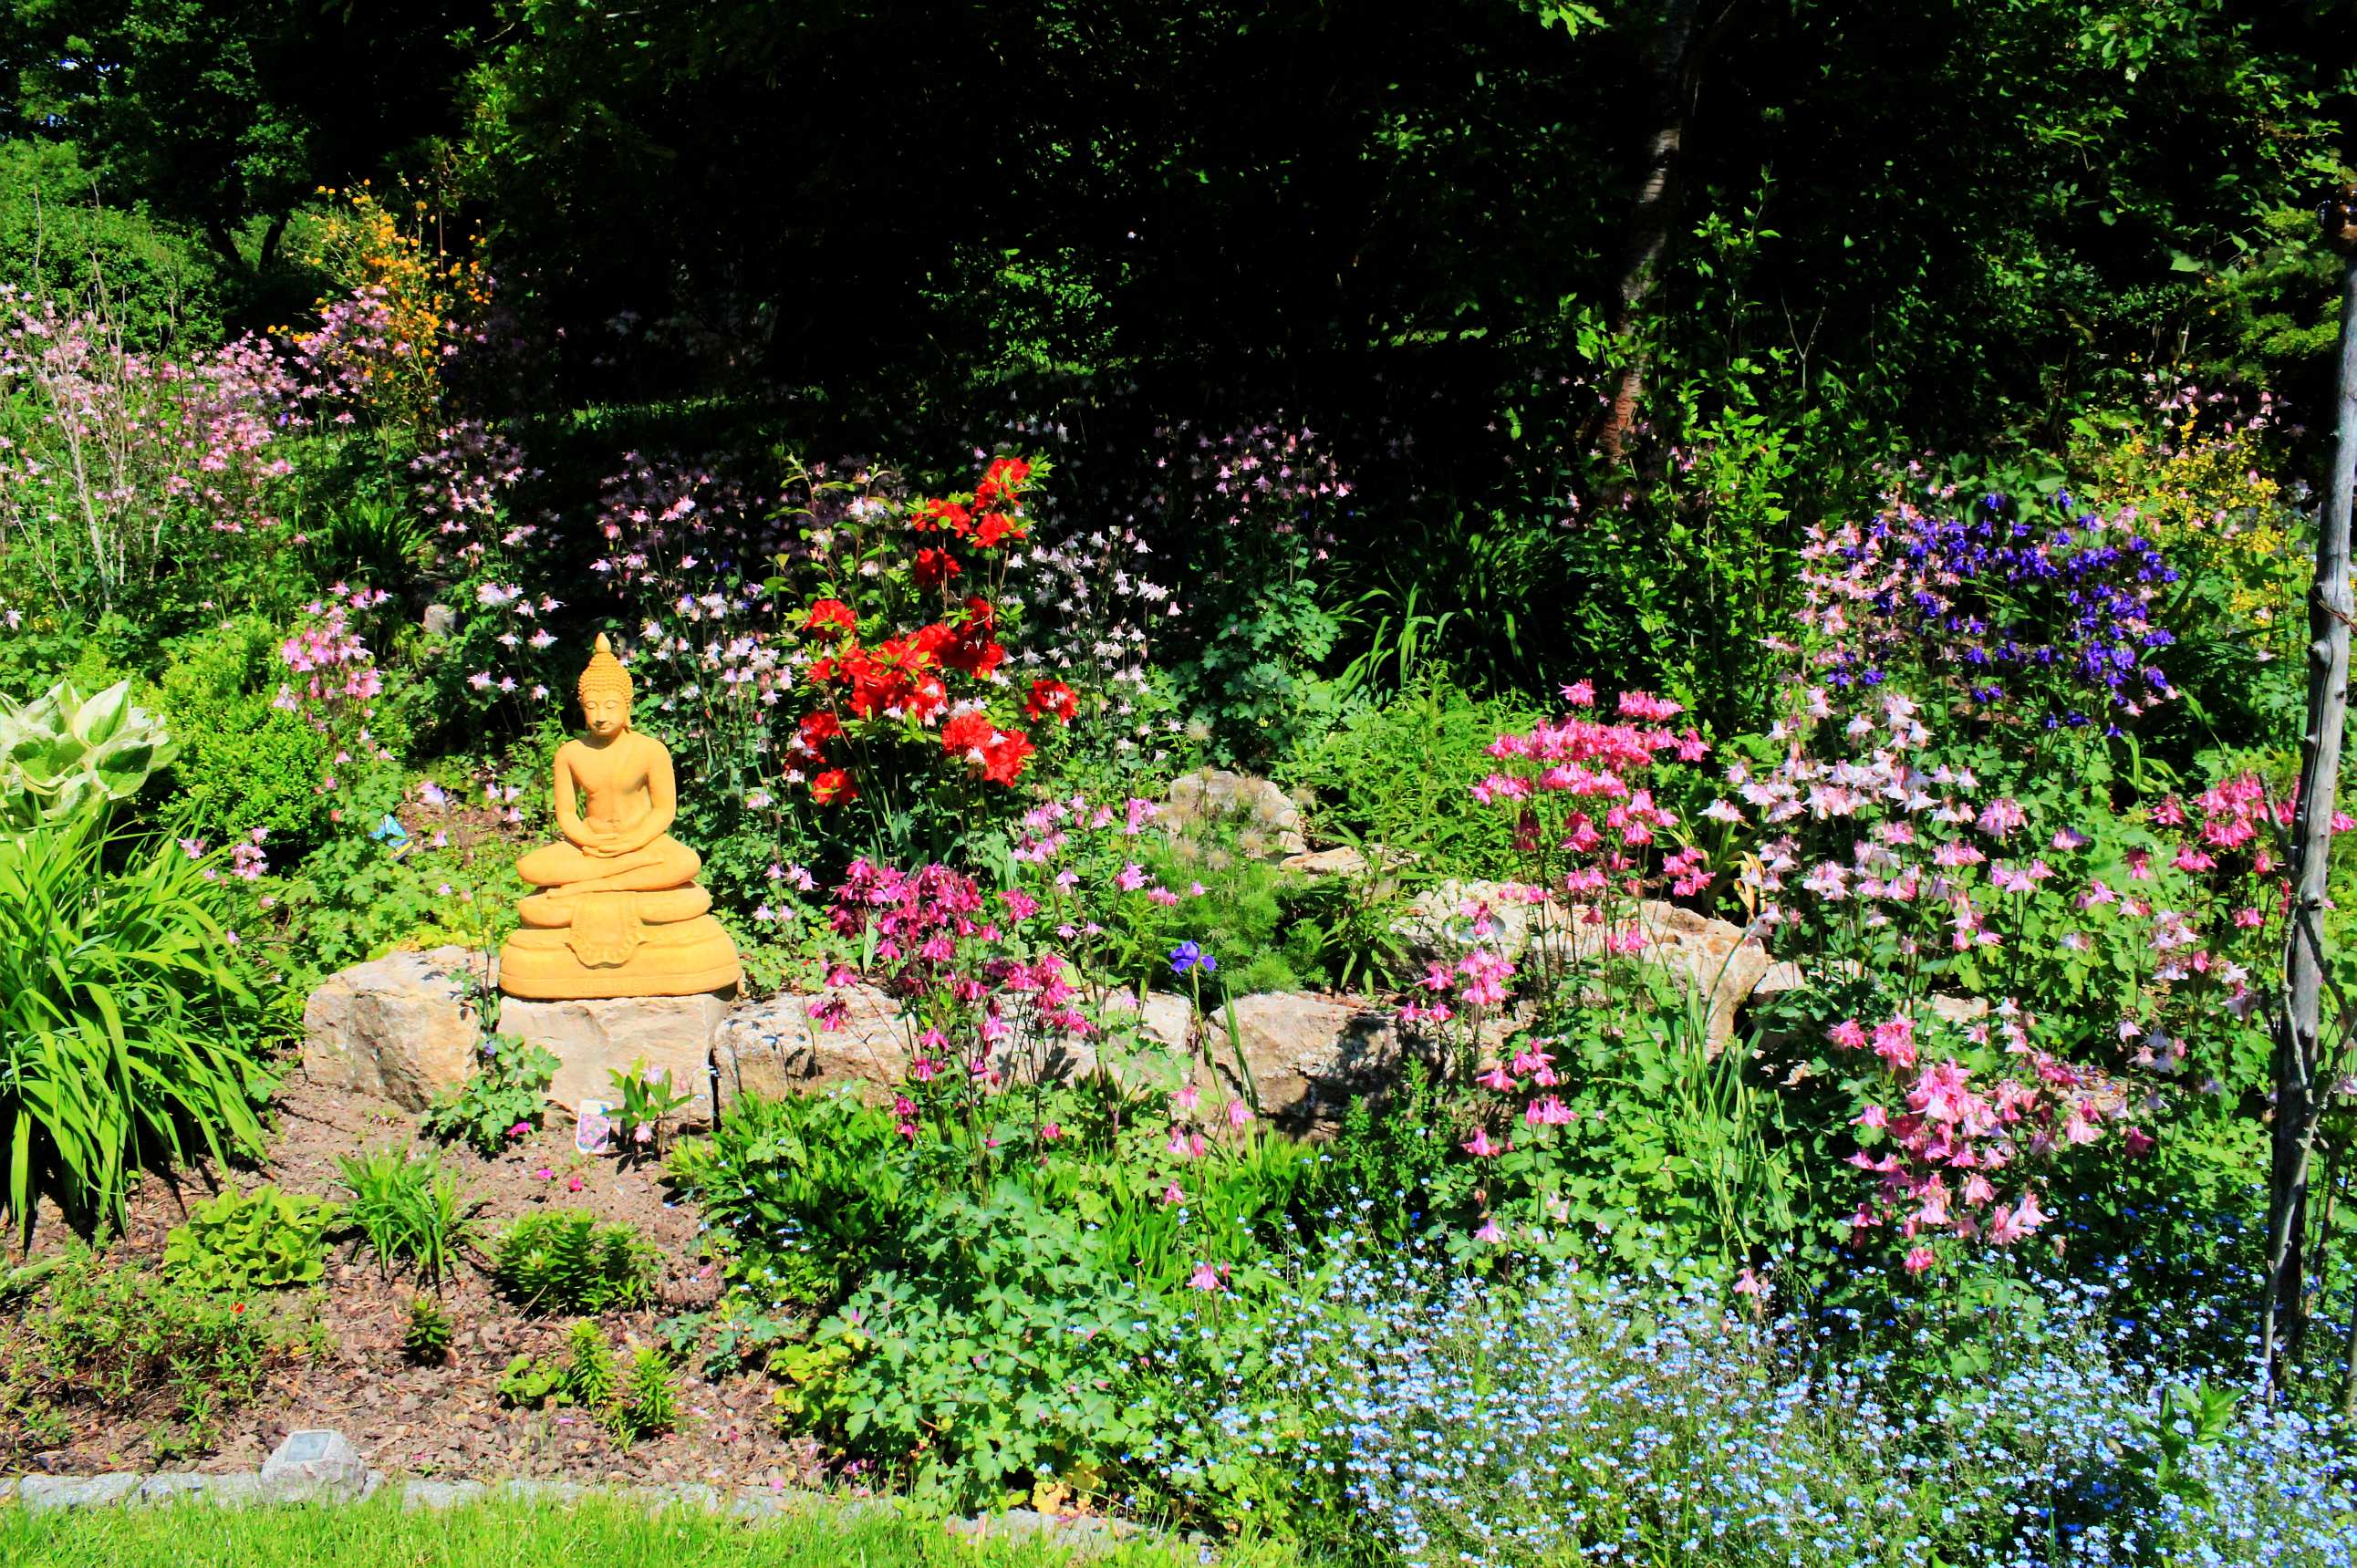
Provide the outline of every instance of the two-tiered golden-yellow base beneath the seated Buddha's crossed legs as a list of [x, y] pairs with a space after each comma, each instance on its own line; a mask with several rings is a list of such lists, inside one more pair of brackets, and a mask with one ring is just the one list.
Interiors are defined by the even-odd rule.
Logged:
[[500, 990], [530, 1002], [726, 990], [738, 953], [709, 908], [700, 887], [526, 898], [523, 927], [500, 948]]

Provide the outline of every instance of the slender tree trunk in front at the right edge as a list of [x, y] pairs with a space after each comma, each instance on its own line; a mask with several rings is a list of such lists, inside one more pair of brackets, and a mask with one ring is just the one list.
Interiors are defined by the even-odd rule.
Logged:
[[2270, 1389], [2298, 1361], [2308, 1285], [2308, 1165], [2324, 1096], [2317, 1094], [2317, 1037], [2324, 1004], [2324, 887], [2331, 875], [2333, 799], [2341, 790], [2341, 729], [2350, 684], [2350, 500], [2357, 490], [2357, 224], [2326, 207], [2326, 238], [2341, 271], [2341, 439], [2317, 526], [2317, 580], [2308, 594], [2308, 729], [2300, 736], [2300, 804], [2291, 823], [2291, 920], [2284, 953], [2284, 1009], [2275, 1028], [2275, 1151], [2267, 1181], [2267, 1304], [2260, 1358]]

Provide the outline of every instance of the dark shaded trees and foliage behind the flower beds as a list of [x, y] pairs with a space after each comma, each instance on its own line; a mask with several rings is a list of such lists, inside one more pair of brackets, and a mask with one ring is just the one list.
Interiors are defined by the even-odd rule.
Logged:
[[2352, 59], [2227, 0], [19, 0], [0, 252], [266, 325], [302, 203], [398, 186], [481, 233], [556, 500], [559, 439], [922, 469], [1028, 417], [1110, 514], [1153, 429], [1285, 410], [1358, 479], [1336, 606], [1728, 726], [1883, 460], [2051, 490], [2147, 377], [2322, 408]]

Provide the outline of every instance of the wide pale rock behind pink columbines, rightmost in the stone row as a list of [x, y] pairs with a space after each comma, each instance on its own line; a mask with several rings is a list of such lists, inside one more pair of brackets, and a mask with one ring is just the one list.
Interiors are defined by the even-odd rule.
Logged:
[[[1518, 964], [1539, 943], [1556, 960], [1603, 957], [1605, 927], [1565, 920], [1553, 905], [1523, 903], [1504, 882], [1447, 879], [1417, 894], [1393, 931], [1407, 943], [1414, 962], [1447, 962], [1473, 943], [1475, 915], [1485, 910], [1497, 948]], [[1645, 934], [1640, 960], [1669, 971], [1690, 993], [1711, 997], [1711, 1045], [1735, 1037], [1735, 1009], [1770, 969], [1768, 948], [1747, 938], [1742, 927], [1697, 915], [1662, 898], [1636, 905], [1636, 927]]]

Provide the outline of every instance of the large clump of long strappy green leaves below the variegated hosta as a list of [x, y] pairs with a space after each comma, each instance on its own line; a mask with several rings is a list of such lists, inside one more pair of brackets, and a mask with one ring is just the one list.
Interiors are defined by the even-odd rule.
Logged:
[[139, 1160], [262, 1151], [266, 1007], [231, 938], [236, 882], [205, 870], [90, 818], [0, 837], [0, 1207], [19, 1226], [38, 1186], [94, 1224]]

